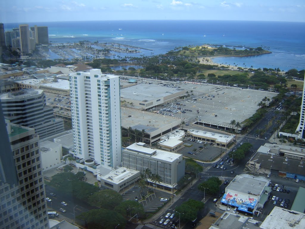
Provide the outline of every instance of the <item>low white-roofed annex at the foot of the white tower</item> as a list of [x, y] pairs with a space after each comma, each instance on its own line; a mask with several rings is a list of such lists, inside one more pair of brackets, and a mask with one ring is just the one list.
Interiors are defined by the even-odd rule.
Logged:
[[139, 177], [139, 171], [119, 167], [105, 176], [98, 175], [97, 179], [101, 182], [102, 186], [119, 192], [120, 190], [128, 187], [130, 184], [135, 183]]

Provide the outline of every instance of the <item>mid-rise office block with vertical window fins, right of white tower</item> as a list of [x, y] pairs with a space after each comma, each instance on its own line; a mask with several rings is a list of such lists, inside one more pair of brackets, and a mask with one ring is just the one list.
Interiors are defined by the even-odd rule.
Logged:
[[[126, 147], [122, 154], [123, 166], [143, 174], [148, 168], [152, 174], [160, 176], [160, 183], [156, 184], [157, 187], [172, 190], [185, 173], [185, 160], [183, 160], [182, 154], [152, 149], [145, 145], [145, 143], [138, 142]], [[149, 180], [149, 183], [155, 185], [152, 180]]]

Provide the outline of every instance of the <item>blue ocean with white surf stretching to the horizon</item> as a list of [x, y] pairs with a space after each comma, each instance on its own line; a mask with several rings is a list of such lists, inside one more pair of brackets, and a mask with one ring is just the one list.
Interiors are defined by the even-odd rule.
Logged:
[[[216, 44], [262, 47], [271, 54], [250, 57], [217, 57], [219, 64], [253, 68], [305, 68], [305, 23], [217, 20], [124, 20], [37, 22], [29, 26], [48, 26], [51, 42], [67, 43], [87, 40], [121, 43], [141, 48], [142, 53], [114, 53], [118, 56], [152, 56], [176, 47]], [[5, 30], [18, 24], [5, 24]], [[117, 56], [118, 55], [118, 56]]]

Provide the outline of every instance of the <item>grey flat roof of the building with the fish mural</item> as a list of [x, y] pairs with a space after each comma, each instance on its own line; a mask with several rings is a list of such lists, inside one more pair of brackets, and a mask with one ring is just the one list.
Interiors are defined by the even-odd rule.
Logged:
[[252, 176], [248, 174], [241, 174], [228, 184], [226, 189], [232, 191], [239, 191], [242, 193], [249, 193], [252, 195], [260, 195], [264, 187], [270, 183], [270, 180], [260, 176]]

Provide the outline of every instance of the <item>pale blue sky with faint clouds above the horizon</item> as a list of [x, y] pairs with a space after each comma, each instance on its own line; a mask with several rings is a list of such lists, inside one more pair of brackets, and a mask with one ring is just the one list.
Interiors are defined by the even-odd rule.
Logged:
[[250, 20], [305, 22], [304, 0], [2, 0], [0, 22]]

